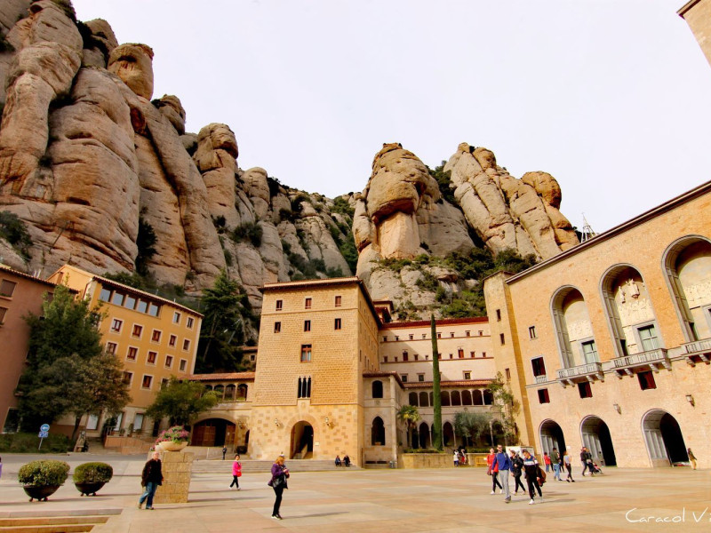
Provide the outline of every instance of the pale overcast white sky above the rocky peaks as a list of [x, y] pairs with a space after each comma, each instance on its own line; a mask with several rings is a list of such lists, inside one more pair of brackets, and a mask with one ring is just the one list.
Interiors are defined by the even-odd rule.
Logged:
[[154, 98], [227, 123], [244, 170], [335, 197], [400, 142], [547, 171], [597, 233], [711, 179], [711, 67], [685, 0], [73, 0], [154, 52]]

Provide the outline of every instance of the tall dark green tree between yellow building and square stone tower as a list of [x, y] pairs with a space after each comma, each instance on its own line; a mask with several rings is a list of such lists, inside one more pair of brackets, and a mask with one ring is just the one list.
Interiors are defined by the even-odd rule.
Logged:
[[203, 290], [203, 328], [197, 346], [196, 373], [241, 370], [247, 295], [224, 270], [212, 288]]

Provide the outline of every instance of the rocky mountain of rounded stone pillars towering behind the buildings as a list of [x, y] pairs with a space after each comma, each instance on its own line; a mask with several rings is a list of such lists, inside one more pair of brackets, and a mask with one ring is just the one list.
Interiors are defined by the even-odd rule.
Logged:
[[180, 99], [153, 99], [148, 45], [76, 20], [68, 0], [2, 1], [0, 211], [28, 233], [22, 250], [0, 239], [12, 267], [138, 271], [194, 293], [226, 269], [257, 308], [264, 282], [356, 272], [373, 298], [424, 310], [472, 280], [423, 258], [545, 259], [578, 243], [553, 177], [515, 179], [467, 144], [436, 171], [384, 145], [363, 193], [336, 199], [243, 170], [228, 125], [186, 132]]

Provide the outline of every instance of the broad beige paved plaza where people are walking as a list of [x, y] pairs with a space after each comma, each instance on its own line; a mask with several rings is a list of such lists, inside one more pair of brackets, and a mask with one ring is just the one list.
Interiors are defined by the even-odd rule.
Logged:
[[107, 460], [115, 478], [97, 497], [80, 497], [69, 479], [42, 503], [29, 503], [16, 481], [17, 468], [28, 457], [3, 458], [0, 519], [113, 513], [93, 529], [99, 533], [166, 527], [172, 533], [711, 530], [711, 475], [688, 468], [607, 468], [605, 475], [593, 479], [581, 478], [576, 468], [576, 483], [552, 481], [550, 475], [544, 501], [537, 498], [536, 505], [528, 505], [527, 496], [514, 496], [508, 505], [499, 494], [491, 496], [483, 468], [293, 473], [284, 491], [284, 521], [275, 521], [270, 518], [274, 493], [267, 486], [268, 472], [245, 473], [240, 491], [228, 490], [229, 475], [194, 474], [188, 504], [156, 505], [155, 511], [146, 511], [136, 507], [145, 457], [69, 457], [71, 465]]

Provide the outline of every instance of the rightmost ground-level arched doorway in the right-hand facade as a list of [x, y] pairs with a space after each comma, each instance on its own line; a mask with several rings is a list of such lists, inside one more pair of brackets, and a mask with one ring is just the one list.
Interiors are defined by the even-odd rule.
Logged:
[[685, 463], [689, 460], [682, 429], [676, 418], [665, 410], [651, 410], [642, 419], [644, 442], [655, 468]]

